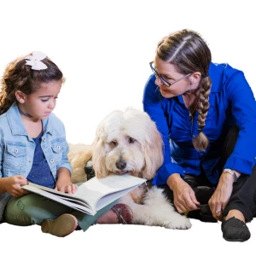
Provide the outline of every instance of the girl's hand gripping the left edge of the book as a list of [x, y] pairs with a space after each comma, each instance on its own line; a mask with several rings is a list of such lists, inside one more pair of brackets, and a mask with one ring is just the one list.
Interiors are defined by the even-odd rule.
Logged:
[[4, 188], [6, 192], [9, 193], [9, 195], [12, 195], [14, 197], [20, 197], [21, 195], [26, 195], [29, 192], [25, 189], [21, 189], [21, 186], [27, 184], [26, 177], [23, 177], [21, 175], [15, 175], [11, 177], [4, 177], [5, 183]]

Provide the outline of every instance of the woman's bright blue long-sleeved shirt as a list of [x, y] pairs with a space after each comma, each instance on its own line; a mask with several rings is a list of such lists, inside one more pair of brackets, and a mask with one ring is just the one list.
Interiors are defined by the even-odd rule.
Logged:
[[213, 184], [218, 182], [216, 167], [221, 155], [224, 136], [231, 125], [237, 125], [239, 136], [236, 146], [224, 168], [250, 174], [256, 157], [256, 102], [244, 74], [228, 64], [213, 64], [209, 68], [212, 88], [210, 108], [203, 132], [210, 145], [205, 152], [197, 151], [192, 139], [197, 136], [198, 113], [193, 123], [183, 96], [164, 98], [155, 77], [151, 75], [143, 93], [143, 108], [156, 123], [164, 148], [164, 163], [154, 177], [155, 185], [165, 184], [173, 173], [200, 175], [201, 167]]

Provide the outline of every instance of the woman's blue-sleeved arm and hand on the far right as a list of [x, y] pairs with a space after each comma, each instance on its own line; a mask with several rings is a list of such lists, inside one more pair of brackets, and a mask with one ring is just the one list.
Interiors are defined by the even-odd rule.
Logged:
[[[241, 173], [252, 172], [256, 156], [256, 102], [243, 73], [234, 73], [224, 86], [224, 96], [231, 107], [231, 113], [236, 121], [239, 134], [235, 148], [224, 165], [235, 171], [236, 177]], [[230, 201], [234, 178], [229, 172], [223, 172], [219, 178], [218, 186], [209, 201], [214, 218], [222, 220], [222, 210]]]

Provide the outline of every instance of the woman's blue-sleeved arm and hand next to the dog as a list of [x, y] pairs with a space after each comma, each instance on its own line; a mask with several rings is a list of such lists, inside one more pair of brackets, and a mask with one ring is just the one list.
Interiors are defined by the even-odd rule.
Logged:
[[181, 166], [172, 163], [171, 148], [169, 143], [169, 127], [167, 125], [166, 114], [161, 107], [160, 91], [154, 84], [154, 75], [148, 79], [143, 93], [143, 108], [151, 119], [154, 120], [158, 130], [161, 133], [165, 149], [164, 163], [160, 167], [153, 184], [168, 184], [174, 195], [174, 205], [178, 212], [187, 212], [197, 209], [196, 204], [200, 204], [195, 199], [195, 192], [188, 183], [183, 181], [183, 169]]

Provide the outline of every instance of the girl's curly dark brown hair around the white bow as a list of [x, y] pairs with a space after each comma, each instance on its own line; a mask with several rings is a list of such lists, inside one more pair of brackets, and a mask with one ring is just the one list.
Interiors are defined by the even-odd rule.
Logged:
[[49, 83], [53, 80], [65, 82], [59, 67], [48, 57], [42, 61], [47, 66], [46, 69], [33, 70], [31, 66], [26, 65], [27, 56], [21, 56], [9, 62], [3, 72], [0, 81], [0, 114], [5, 113], [16, 101], [15, 91], [17, 90], [30, 95], [38, 90], [42, 83]]

